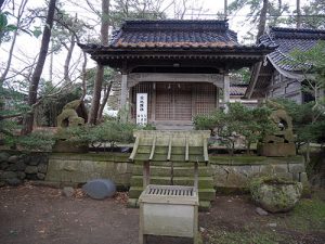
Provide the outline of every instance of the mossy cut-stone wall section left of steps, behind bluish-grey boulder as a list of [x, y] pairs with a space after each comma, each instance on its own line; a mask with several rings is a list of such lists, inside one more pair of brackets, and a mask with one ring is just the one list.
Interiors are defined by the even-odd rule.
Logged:
[[105, 178], [113, 180], [118, 188], [128, 188], [133, 169], [129, 156], [128, 153], [52, 153], [46, 181], [84, 183]]

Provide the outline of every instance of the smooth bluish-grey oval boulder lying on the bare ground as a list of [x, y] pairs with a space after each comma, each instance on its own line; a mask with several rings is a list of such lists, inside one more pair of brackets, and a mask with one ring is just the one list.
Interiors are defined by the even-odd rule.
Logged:
[[83, 184], [82, 190], [94, 200], [103, 200], [113, 196], [116, 192], [116, 185], [113, 181], [106, 179], [95, 179]]

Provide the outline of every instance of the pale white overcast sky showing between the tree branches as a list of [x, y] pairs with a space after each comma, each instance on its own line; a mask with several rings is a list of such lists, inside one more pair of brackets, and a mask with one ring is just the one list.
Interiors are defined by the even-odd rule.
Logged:
[[[173, 0], [165, 0], [166, 3], [165, 4], [169, 4], [171, 1]], [[206, 18], [216, 18], [216, 14], [218, 12], [223, 12], [223, 4], [224, 4], [224, 0], [188, 0], [190, 5], [192, 5], [193, 10], [190, 11], [190, 13], [196, 13], [196, 10], [199, 8], [203, 8], [203, 13], [199, 18], [206, 20]], [[83, 0], [69, 0], [69, 1], [65, 1], [65, 5], [63, 7], [63, 9], [69, 13], [70, 15], [75, 15], [76, 13], [78, 13], [78, 17], [80, 18], [84, 18], [88, 20], [88, 22], [92, 22], [91, 20], [89, 20], [89, 17], [91, 17], [91, 14], [89, 13], [89, 8], [86, 5], [86, 1]], [[70, 2], [70, 3], [69, 3]], [[101, 1], [100, 0], [93, 0], [92, 2], [94, 2], [95, 7], [98, 7], [99, 9], [101, 8]], [[229, 0], [229, 3], [231, 3], [232, 0]], [[289, 0], [283, 0], [284, 3], [289, 3], [291, 9], [295, 9], [295, 4], [296, 1], [289, 1]], [[309, 1], [307, 0], [301, 0], [301, 5], [307, 4]], [[72, 5], [73, 3], [75, 4], [80, 4], [79, 7], [76, 5]], [[40, 7], [44, 4], [44, 0], [29, 0], [28, 2], [28, 7], [29, 8], [35, 8], [35, 7]], [[250, 30], [250, 27], [247, 23], [247, 21], [245, 21], [245, 14], [247, 13], [247, 10], [243, 10], [240, 12], [238, 12], [235, 16], [231, 15], [229, 16], [230, 20], [230, 28], [235, 30], [236, 33], [238, 33], [238, 37], [239, 40], [243, 40], [243, 36], [246, 35], [246, 33], [248, 30]], [[168, 17], [172, 18], [173, 17], [173, 10], [169, 9], [168, 10]], [[95, 17], [92, 17], [95, 18]], [[186, 15], [185, 18], [197, 18], [197, 15]], [[99, 27], [100, 25], [98, 25]], [[252, 29], [253, 31], [253, 29]], [[99, 29], [92, 34], [93, 37], [95, 37], [96, 35], [99, 35]], [[17, 57], [21, 59], [25, 59], [27, 60], [27, 57], [35, 57], [36, 53], [39, 51], [39, 47], [40, 47], [40, 40], [41, 38], [39, 37], [38, 39], [36, 39], [35, 37], [30, 37], [28, 35], [20, 35], [17, 38], [17, 44], [15, 47], [15, 56], [13, 59], [13, 67], [14, 66], [26, 66], [26, 64], [24, 64], [22, 61], [20, 61]], [[10, 43], [3, 43], [1, 44], [1, 49], [0, 49], [0, 56], [1, 60], [0, 62], [5, 62], [6, 61], [6, 53], [9, 50]], [[24, 55], [23, 55], [24, 53]], [[74, 51], [74, 55], [75, 56], [79, 56], [80, 53], [80, 49], [78, 47], [75, 48]], [[60, 54], [60, 55], [55, 55], [54, 56], [54, 67], [53, 67], [53, 73], [55, 74], [62, 74], [63, 70], [63, 65], [64, 65], [64, 59], [65, 59], [65, 54]], [[30, 59], [31, 60], [31, 59]], [[49, 60], [49, 59], [48, 59]], [[94, 65], [93, 62], [90, 61], [89, 66]], [[49, 63], [47, 62], [46, 67], [43, 69], [43, 77], [49, 77]], [[55, 78], [55, 77], [54, 77]]]

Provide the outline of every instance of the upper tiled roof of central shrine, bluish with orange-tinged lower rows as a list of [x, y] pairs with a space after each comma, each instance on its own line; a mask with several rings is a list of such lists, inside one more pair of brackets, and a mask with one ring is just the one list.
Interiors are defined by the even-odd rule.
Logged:
[[110, 48], [214, 48], [238, 46], [226, 21], [127, 21]]

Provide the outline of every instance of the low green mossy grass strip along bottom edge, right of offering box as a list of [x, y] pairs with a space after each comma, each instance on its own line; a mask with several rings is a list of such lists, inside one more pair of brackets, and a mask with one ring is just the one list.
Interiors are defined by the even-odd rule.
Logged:
[[280, 233], [271, 231], [223, 231], [214, 230], [207, 233], [208, 243], [211, 244], [278, 244], [278, 243], [291, 243], [288, 236], [284, 236]]

